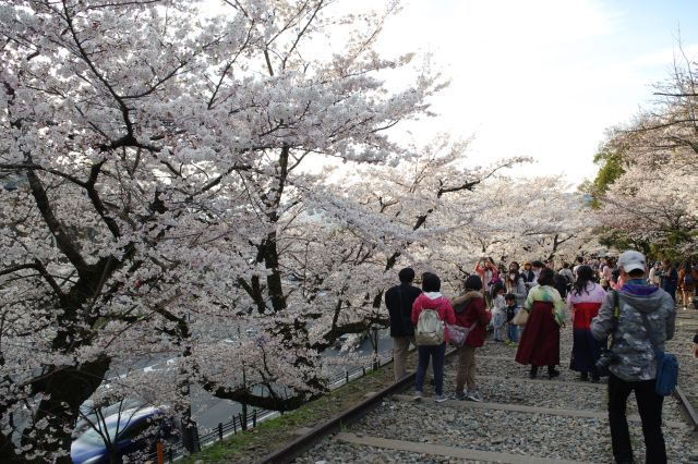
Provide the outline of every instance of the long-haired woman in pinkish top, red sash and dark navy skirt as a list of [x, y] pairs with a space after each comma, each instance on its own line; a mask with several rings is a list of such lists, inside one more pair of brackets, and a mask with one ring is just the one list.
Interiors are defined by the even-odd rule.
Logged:
[[601, 355], [601, 346], [591, 334], [591, 319], [597, 317], [606, 292], [593, 281], [593, 270], [579, 266], [577, 280], [567, 295], [567, 306], [571, 308], [573, 346], [569, 368], [579, 374], [581, 380], [599, 381], [594, 365]]

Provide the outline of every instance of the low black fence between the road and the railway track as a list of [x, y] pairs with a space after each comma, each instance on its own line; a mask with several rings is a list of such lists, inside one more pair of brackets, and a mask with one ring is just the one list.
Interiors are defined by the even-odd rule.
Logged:
[[[392, 361], [393, 361], [392, 358], [387, 358], [384, 361], [381, 361], [381, 358], [378, 358], [377, 363], [373, 363], [373, 365], [369, 367], [362, 366], [362, 367], [354, 367], [351, 369], [345, 369], [342, 376], [336, 377], [335, 380], [329, 383], [329, 389], [334, 390], [336, 388], [339, 388], [344, 384], [349, 383], [352, 380], [359, 379], [365, 376], [371, 370], [374, 370], [374, 367], [380, 368], [390, 363]], [[197, 434], [197, 440], [196, 440], [198, 443], [197, 448], [201, 449], [209, 444], [213, 444], [217, 441], [222, 441], [226, 437], [239, 434], [243, 430], [252, 429], [257, 426], [257, 423], [261, 423], [265, 419], [276, 417], [277, 415], [282, 415], [282, 414], [284, 414], [282, 412], [268, 411], [268, 410], [262, 410], [262, 408], [252, 408], [252, 413], [248, 415], [242, 413], [237, 414], [232, 417], [232, 420], [225, 424], [219, 423], [218, 426], [214, 428], [212, 431], [204, 435]], [[161, 447], [163, 447], [163, 451], [153, 452], [152, 454], [146, 456], [146, 461], [153, 462], [153, 463], [163, 463], [163, 462], [171, 463], [186, 453], [186, 449], [181, 443], [181, 441], [180, 442], [163, 442]], [[158, 459], [158, 454], [160, 454], [161, 457]]]

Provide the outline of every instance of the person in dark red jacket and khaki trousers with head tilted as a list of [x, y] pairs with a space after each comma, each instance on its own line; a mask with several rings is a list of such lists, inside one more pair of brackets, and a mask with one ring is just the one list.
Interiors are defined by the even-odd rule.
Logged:
[[[456, 399], [482, 401], [482, 395], [476, 387], [476, 349], [484, 344], [485, 330], [492, 313], [482, 294], [482, 280], [480, 276], [470, 276], [466, 279], [466, 293], [454, 298], [453, 306], [456, 313], [456, 325], [461, 327], [477, 326], [468, 333], [466, 343], [458, 349], [458, 371], [456, 373]], [[464, 391], [464, 387], [468, 390]]]

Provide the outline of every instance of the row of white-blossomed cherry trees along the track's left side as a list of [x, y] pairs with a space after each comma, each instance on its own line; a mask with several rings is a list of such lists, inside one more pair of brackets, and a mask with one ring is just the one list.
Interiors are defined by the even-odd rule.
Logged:
[[397, 2], [208, 4], [0, 1], [2, 462], [69, 462], [88, 399], [147, 392], [190, 441], [198, 387], [298, 407], [325, 349], [385, 325], [396, 266], [455, 289], [483, 247], [578, 231], [558, 186], [506, 194], [524, 159], [396, 142], [443, 85], [375, 51]]

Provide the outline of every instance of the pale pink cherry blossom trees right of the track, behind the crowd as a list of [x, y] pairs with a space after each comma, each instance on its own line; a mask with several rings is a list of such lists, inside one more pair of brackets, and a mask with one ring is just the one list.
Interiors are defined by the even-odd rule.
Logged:
[[592, 194], [605, 243], [670, 257], [698, 249], [696, 64], [681, 57], [672, 75], [655, 86], [650, 109], [614, 130], [604, 144], [609, 156], [601, 157]]

